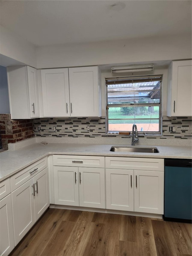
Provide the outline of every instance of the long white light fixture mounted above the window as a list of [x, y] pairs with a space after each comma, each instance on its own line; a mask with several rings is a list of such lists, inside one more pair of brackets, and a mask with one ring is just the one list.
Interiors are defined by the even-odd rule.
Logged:
[[112, 73], [141, 72], [141, 71], [153, 71], [153, 63], [111, 67]]

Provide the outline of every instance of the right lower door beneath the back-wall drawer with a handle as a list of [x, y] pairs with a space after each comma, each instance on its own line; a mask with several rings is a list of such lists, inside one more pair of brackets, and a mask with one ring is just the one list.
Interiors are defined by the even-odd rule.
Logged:
[[105, 169], [79, 167], [79, 206], [105, 208]]

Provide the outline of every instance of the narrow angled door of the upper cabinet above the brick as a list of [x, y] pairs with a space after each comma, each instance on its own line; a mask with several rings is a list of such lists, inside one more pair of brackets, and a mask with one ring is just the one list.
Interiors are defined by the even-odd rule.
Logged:
[[38, 97], [38, 83], [37, 70], [27, 66], [27, 80], [29, 89], [29, 111], [30, 117], [39, 117], [39, 97]]

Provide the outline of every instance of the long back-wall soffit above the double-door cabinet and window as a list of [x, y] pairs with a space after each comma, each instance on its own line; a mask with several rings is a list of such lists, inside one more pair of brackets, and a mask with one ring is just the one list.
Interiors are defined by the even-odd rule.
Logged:
[[191, 35], [37, 47], [38, 68], [190, 59]]

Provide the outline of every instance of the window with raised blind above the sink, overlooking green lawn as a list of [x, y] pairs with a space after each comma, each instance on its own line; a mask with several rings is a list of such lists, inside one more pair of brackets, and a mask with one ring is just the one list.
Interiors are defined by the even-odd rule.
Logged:
[[107, 133], [132, 131], [161, 133], [162, 75], [106, 78]]

